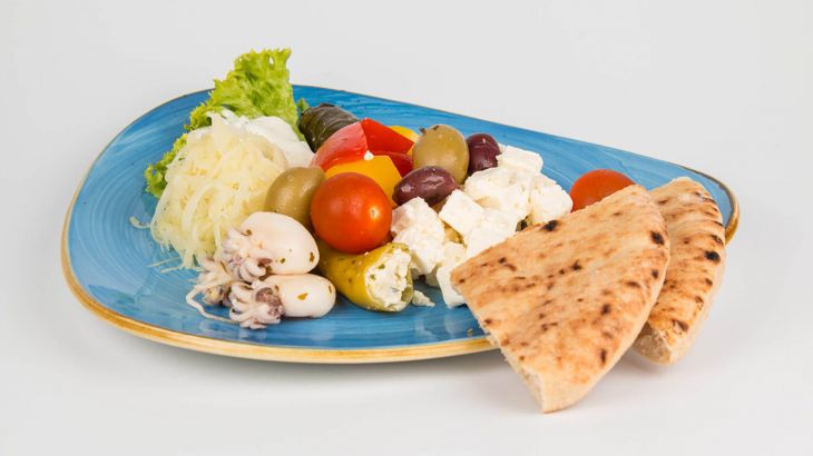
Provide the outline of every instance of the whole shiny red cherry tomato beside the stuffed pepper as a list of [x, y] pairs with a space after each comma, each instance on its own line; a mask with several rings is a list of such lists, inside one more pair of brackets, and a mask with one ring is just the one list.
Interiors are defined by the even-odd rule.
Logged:
[[343, 172], [322, 182], [311, 200], [316, 235], [336, 250], [363, 254], [390, 235], [392, 206], [375, 181]]

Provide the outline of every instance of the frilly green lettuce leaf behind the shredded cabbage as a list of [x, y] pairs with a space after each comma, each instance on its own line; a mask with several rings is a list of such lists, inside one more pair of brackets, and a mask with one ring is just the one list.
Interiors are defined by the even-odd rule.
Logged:
[[[226, 75], [226, 79], [215, 79], [215, 88], [209, 92], [209, 99], [195, 108], [189, 115], [188, 131], [206, 127], [212, 123], [208, 112], [221, 112], [228, 109], [237, 116], [249, 119], [261, 116], [276, 116], [287, 122], [300, 138], [303, 138], [296, 127], [298, 112], [294, 101], [294, 91], [288, 81], [286, 62], [291, 57], [291, 49], [251, 51], [239, 56], [234, 61], [234, 69]], [[178, 138], [173, 149], [164, 157], [147, 166], [144, 178], [146, 190], [159, 198], [166, 188], [167, 167], [173, 162], [178, 150], [186, 143], [186, 135]]]

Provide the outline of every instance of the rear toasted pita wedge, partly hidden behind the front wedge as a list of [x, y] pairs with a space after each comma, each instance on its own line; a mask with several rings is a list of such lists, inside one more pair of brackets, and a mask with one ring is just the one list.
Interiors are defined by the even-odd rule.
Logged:
[[659, 364], [680, 359], [708, 316], [725, 268], [725, 228], [702, 185], [678, 178], [650, 191], [666, 220], [672, 261], [635, 349]]

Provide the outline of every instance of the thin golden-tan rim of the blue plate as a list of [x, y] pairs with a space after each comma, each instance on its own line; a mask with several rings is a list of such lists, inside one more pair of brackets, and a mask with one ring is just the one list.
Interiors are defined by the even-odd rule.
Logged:
[[[324, 90], [336, 90], [336, 89], [330, 89], [326, 87], [320, 87], [320, 86], [307, 86], [307, 85], [296, 85], [297, 87], [312, 87], [316, 89], [324, 89]], [[147, 110], [145, 113], [133, 120], [130, 123], [128, 123], [126, 127], [124, 127], [114, 138], [108, 141], [108, 143], [101, 149], [101, 151], [96, 156], [96, 158], [90, 162], [90, 166], [88, 167], [87, 171], [82, 176], [81, 180], [79, 181], [79, 185], [77, 186], [74, 197], [71, 198], [70, 205], [68, 206], [67, 214], [65, 215], [65, 220], [62, 222], [62, 232], [60, 236], [60, 262], [62, 267], [62, 276], [65, 277], [65, 280], [68, 285], [68, 288], [74, 294], [77, 300], [88, 310], [90, 310], [91, 314], [96, 315], [97, 317], [101, 318], [102, 320], [111, 324], [112, 326], [123, 329], [129, 334], [139, 336], [141, 338], [170, 345], [174, 347], [179, 348], [186, 348], [195, 351], [200, 353], [207, 353], [213, 355], [222, 355], [222, 356], [231, 356], [231, 357], [237, 357], [237, 358], [248, 358], [248, 359], [259, 359], [259, 360], [272, 360], [272, 361], [287, 361], [287, 363], [310, 363], [310, 364], [364, 364], [364, 363], [394, 363], [394, 361], [409, 361], [409, 360], [420, 360], [420, 359], [432, 359], [432, 358], [443, 358], [449, 356], [458, 356], [458, 355], [467, 355], [467, 354], [474, 354], [480, 351], [487, 351], [496, 349], [489, 341], [487, 336], [478, 336], [478, 337], [471, 337], [467, 339], [458, 339], [458, 340], [450, 340], [450, 341], [443, 341], [443, 343], [434, 343], [434, 344], [418, 344], [418, 345], [404, 345], [404, 346], [388, 346], [388, 347], [379, 347], [379, 348], [349, 348], [349, 349], [324, 349], [324, 348], [305, 348], [305, 347], [283, 347], [283, 346], [274, 346], [274, 345], [258, 345], [253, 344], [248, 341], [231, 341], [231, 340], [223, 340], [223, 339], [215, 339], [212, 337], [206, 336], [198, 336], [198, 335], [192, 335], [186, 334], [182, 331], [176, 331], [167, 328], [163, 328], [160, 326], [151, 325], [145, 321], [137, 320], [135, 318], [127, 317], [123, 314], [119, 314], [109, 307], [105, 306], [104, 304], [96, 300], [90, 294], [88, 294], [82, 285], [79, 282], [79, 280], [76, 278], [76, 275], [74, 272], [74, 267], [70, 262], [70, 246], [68, 242], [68, 231], [70, 227], [70, 219], [74, 215], [74, 207], [76, 205], [76, 200], [79, 197], [79, 192], [85, 187], [85, 181], [88, 178], [88, 175], [90, 174], [90, 170], [94, 168], [96, 162], [99, 160], [99, 158], [107, 151], [107, 149], [110, 147], [110, 145], [118, 138], [124, 131], [126, 131], [128, 128], [130, 128], [134, 123], [138, 122], [147, 116], [148, 113], [155, 111], [156, 109], [172, 103], [180, 98], [188, 97], [192, 95], [200, 93], [200, 92], [207, 92], [212, 89], [205, 89], [205, 90], [196, 90], [194, 92], [188, 92], [175, 98], [172, 98], [158, 106], [156, 106], [153, 109]], [[441, 112], [448, 112], [452, 113], [454, 116], [463, 116], [469, 117], [466, 115], [459, 115], [450, 111], [444, 111], [441, 109], [434, 109], [434, 108], [428, 108], [421, 105], [414, 105], [398, 100], [391, 100], [386, 98], [375, 97], [375, 96], [368, 96], [363, 93], [357, 92], [350, 92], [346, 90], [341, 90], [346, 93], [351, 95], [361, 95], [365, 97], [373, 97], [381, 100], [386, 101], [393, 101], [393, 102], [400, 102], [400, 103], [406, 103], [411, 106], [421, 107], [424, 109], [432, 109], [435, 111]], [[481, 120], [481, 119], [478, 119]], [[500, 126], [509, 127], [505, 123], [500, 122], [493, 122], [490, 120], [484, 120], [490, 123], [496, 123]], [[516, 128], [516, 127], [513, 127]], [[528, 130], [532, 131], [532, 130]], [[630, 152], [636, 153], [636, 152]], [[652, 158], [648, 156], [643, 156], [640, 153], [636, 153], [641, 157]], [[725, 185], [719, 179], [703, 172], [698, 171], [696, 169], [692, 169], [689, 167], [674, 163], [667, 160], [660, 160], [656, 159], [673, 166], [677, 166], [680, 168], [684, 168], [688, 171], [696, 172], [698, 175], [702, 175], [706, 177], [707, 179], [716, 182], [721, 189], [726, 194], [728, 197], [728, 200], [731, 201], [732, 206], [732, 215], [728, 219], [728, 224], [725, 227], [725, 238], [726, 238], [726, 246], [731, 240], [734, 238], [734, 235], [737, 230], [737, 227], [739, 226], [739, 202], [737, 201], [736, 196], [734, 192], [728, 188], [727, 185]]]

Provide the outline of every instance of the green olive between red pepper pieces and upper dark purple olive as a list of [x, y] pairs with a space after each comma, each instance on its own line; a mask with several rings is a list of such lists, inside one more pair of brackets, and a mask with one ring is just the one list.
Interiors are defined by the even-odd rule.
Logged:
[[423, 130], [412, 148], [414, 169], [439, 166], [463, 184], [469, 169], [469, 147], [466, 138], [453, 127], [435, 125]]

